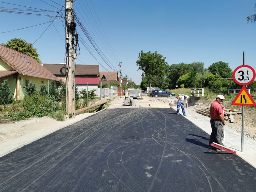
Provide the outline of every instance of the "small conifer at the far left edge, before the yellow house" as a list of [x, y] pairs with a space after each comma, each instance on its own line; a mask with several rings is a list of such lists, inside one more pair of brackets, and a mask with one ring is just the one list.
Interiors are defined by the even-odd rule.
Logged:
[[3, 83], [1, 83], [0, 88], [0, 104], [10, 104], [13, 101], [13, 94], [11, 93], [8, 80], [5, 79]]

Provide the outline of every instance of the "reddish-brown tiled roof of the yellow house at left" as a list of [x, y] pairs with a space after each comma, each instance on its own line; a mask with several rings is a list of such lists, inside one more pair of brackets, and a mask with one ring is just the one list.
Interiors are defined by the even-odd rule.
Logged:
[[[22, 75], [58, 80], [50, 71], [40, 65], [34, 58], [0, 45], [0, 59]], [[14, 65], [12, 66], [12, 64]]]

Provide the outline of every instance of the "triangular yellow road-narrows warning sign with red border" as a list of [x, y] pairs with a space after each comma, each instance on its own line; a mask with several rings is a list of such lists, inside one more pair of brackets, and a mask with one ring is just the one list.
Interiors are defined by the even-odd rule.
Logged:
[[246, 90], [245, 86], [243, 86], [231, 105], [256, 106], [256, 103], [252, 99], [249, 92]]

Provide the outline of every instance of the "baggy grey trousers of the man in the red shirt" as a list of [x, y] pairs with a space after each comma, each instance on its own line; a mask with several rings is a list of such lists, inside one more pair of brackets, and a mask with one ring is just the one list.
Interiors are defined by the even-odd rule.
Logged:
[[211, 145], [212, 142], [221, 144], [224, 134], [223, 134], [223, 124], [220, 120], [211, 119], [211, 127], [212, 127], [212, 133], [210, 135], [209, 145]]

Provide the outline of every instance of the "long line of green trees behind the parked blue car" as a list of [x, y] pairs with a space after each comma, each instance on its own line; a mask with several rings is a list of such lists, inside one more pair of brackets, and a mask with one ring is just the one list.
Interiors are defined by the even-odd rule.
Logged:
[[[138, 69], [142, 70], [142, 89], [159, 87], [175, 88], [209, 88], [216, 93], [227, 93], [228, 89], [241, 89], [234, 82], [233, 71], [227, 62], [218, 61], [204, 68], [204, 62], [179, 63], [169, 65], [166, 57], [156, 52], [139, 53]], [[247, 86], [256, 92], [256, 82]]]

